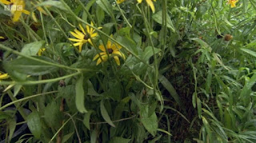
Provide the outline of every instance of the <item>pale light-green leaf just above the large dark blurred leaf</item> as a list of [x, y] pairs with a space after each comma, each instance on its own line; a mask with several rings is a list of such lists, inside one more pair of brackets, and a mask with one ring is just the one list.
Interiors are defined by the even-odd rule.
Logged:
[[45, 41], [40, 42], [31, 42], [23, 46], [21, 53], [26, 54], [27, 56], [35, 56], [38, 54], [38, 50], [42, 48]]

